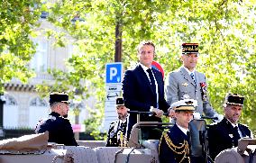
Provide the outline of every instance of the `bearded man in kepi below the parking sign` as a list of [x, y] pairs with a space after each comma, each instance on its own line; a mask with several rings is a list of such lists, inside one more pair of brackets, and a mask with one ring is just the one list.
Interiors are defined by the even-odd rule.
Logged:
[[128, 113], [124, 106], [123, 97], [118, 96], [115, 99], [116, 113], [118, 114], [118, 121], [110, 124], [107, 132], [106, 147], [127, 147], [127, 123]]

